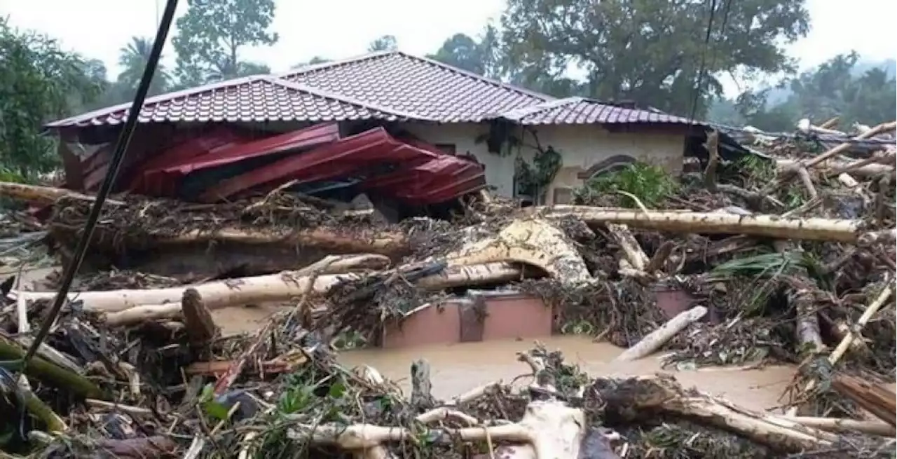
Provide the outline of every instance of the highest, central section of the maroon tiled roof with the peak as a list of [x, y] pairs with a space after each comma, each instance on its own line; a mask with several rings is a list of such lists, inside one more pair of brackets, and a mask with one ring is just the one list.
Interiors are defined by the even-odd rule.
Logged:
[[552, 97], [402, 52], [313, 65], [283, 79], [442, 123], [478, 122]]

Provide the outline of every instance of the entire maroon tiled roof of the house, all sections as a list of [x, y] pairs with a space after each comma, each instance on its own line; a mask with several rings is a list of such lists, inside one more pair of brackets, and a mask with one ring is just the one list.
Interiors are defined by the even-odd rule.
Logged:
[[[47, 125], [118, 125], [131, 104]], [[439, 123], [505, 118], [524, 125], [691, 124], [650, 110], [527, 91], [399, 51], [309, 65], [278, 76], [257, 75], [147, 99], [142, 123], [418, 120]]]

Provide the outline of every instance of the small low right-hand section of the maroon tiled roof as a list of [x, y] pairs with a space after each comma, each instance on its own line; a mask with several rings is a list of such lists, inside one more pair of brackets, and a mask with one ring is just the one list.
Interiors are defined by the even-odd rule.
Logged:
[[581, 97], [551, 100], [538, 105], [510, 110], [498, 117], [522, 125], [613, 125], [626, 123], [663, 123], [700, 125], [693, 120], [656, 110], [623, 108]]

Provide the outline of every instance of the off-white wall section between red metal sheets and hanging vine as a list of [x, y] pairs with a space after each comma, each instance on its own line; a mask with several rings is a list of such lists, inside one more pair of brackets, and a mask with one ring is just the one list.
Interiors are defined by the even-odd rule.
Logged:
[[514, 192], [514, 156], [490, 153], [486, 143], [475, 142], [477, 137], [489, 132], [488, 125], [415, 123], [402, 127], [427, 143], [454, 143], [456, 152], [473, 154], [486, 167], [486, 183], [495, 187], [495, 194], [510, 197]]

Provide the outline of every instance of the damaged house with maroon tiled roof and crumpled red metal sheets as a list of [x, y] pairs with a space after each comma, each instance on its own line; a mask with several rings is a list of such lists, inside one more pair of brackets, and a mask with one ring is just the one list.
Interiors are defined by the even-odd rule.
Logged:
[[[67, 187], [100, 186], [129, 107], [47, 125], [64, 141]], [[139, 120], [118, 191], [214, 202], [289, 183], [391, 209], [454, 203], [485, 186], [561, 204], [609, 165], [640, 160], [678, 174], [705, 136], [683, 117], [556, 100], [397, 51], [162, 94]], [[518, 158], [532, 164], [540, 152], [561, 164], [534, 188], [518, 180]]]

